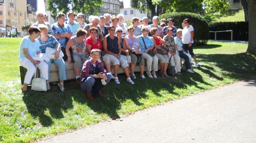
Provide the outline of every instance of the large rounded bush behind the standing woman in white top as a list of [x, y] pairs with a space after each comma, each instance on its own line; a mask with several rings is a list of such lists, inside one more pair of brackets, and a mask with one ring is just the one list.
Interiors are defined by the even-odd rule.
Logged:
[[207, 21], [199, 14], [195, 13], [166, 13], [159, 16], [159, 20], [162, 18], [172, 18], [175, 27], [182, 29], [182, 22], [184, 19], [189, 18], [190, 25], [194, 28], [194, 44], [203, 45], [206, 44], [209, 39], [209, 26]]

